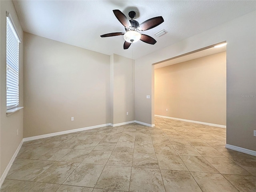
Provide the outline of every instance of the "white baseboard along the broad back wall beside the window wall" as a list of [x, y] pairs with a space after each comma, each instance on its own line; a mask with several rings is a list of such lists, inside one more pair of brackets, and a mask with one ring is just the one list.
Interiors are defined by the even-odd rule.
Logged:
[[110, 123], [108, 124], [102, 124], [102, 125], [96, 125], [96, 126], [90, 126], [90, 127], [84, 127], [84, 128], [78, 128], [78, 129], [72, 129], [72, 130], [67, 130], [67, 131], [61, 131], [61, 132], [55, 132], [55, 133], [49, 133], [49, 134], [44, 134], [44, 135], [38, 135], [38, 136], [33, 136], [33, 137], [26, 137], [23, 139], [23, 141], [32, 141], [36, 139], [42, 139], [42, 138], [47, 138], [47, 137], [52, 137], [52, 136], [57, 136], [57, 135], [63, 135], [63, 134], [68, 134], [68, 133], [74, 133], [74, 132], [79, 132], [79, 131], [84, 131], [84, 130], [89, 130], [89, 129], [94, 129], [94, 128], [100, 128], [100, 127], [105, 127], [105, 126], [110, 126]]

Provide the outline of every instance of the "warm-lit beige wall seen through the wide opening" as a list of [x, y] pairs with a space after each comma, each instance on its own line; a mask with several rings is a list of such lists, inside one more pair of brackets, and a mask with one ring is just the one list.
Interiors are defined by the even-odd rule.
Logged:
[[226, 52], [154, 71], [155, 114], [226, 125]]

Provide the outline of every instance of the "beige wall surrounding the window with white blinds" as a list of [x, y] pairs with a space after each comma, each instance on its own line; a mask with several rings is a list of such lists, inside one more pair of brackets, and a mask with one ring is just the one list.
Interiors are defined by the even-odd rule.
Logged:
[[23, 30], [12, 1], [0, 1], [0, 176], [23, 138], [23, 109], [6, 116], [6, 11], [10, 12], [22, 39], [19, 45], [19, 103], [23, 106]]

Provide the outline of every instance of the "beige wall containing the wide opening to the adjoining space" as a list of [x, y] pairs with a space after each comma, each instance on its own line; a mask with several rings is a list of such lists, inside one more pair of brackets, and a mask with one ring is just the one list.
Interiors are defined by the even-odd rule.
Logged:
[[154, 123], [152, 64], [218, 42], [227, 42], [227, 144], [256, 151], [256, 12], [206, 30], [135, 60], [135, 120]]

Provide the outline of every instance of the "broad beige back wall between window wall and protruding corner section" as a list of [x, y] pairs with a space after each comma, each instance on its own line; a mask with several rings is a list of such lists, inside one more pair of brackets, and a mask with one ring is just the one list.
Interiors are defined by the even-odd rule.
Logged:
[[108, 124], [109, 101], [110, 56], [24, 32], [24, 138]]

